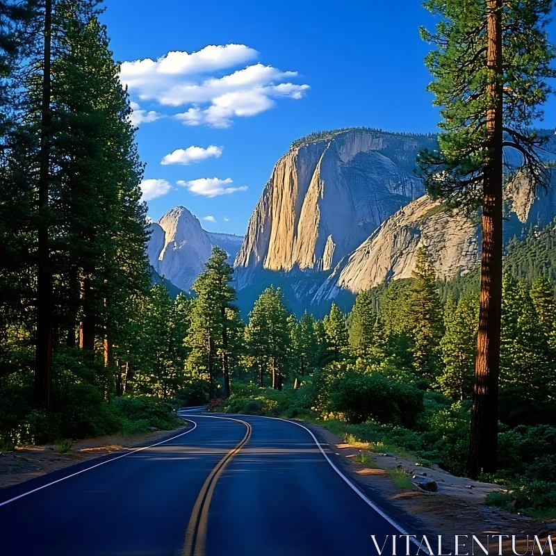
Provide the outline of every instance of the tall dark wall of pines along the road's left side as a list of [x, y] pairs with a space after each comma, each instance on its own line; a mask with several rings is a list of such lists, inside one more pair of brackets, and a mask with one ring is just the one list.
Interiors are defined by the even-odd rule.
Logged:
[[110, 402], [137, 357], [133, 311], [150, 288], [143, 167], [99, 5], [0, 2], [7, 443], [117, 430]]

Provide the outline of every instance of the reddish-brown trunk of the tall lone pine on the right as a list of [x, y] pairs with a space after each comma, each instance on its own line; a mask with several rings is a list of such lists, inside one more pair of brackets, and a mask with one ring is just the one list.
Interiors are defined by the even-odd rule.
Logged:
[[471, 412], [469, 472], [493, 473], [498, 459], [498, 374], [502, 306], [502, 0], [488, 0], [487, 65], [491, 106], [486, 116], [490, 156], [484, 168], [479, 334]]

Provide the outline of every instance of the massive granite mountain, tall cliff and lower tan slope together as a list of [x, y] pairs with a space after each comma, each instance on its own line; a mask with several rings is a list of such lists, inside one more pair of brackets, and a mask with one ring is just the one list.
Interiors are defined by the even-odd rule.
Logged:
[[[553, 160], [556, 138], [547, 152]], [[238, 304], [244, 314], [271, 284], [296, 313], [316, 315], [336, 300], [350, 309], [362, 289], [411, 276], [425, 245], [439, 277], [480, 262], [480, 220], [423, 195], [417, 153], [436, 136], [342, 129], [297, 140], [275, 165], [236, 257]], [[509, 151], [512, 167], [521, 155]], [[556, 180], [555, 186], [556, 186]], [[518, 173], [505, 189], [505, 238], [556, 215], [552, 188], [531, 194]]]

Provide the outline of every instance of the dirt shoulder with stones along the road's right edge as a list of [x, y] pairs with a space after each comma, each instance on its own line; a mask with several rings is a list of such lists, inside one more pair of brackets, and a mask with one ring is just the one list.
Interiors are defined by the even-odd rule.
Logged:
[[[384, 500], [386, 507], [383, 504], [383, 509], [391, 515], [393, 512], [398, 514], [406, 523], [413, 525], [414, 530], [418, 528], [421, 533], [449, 536], [475, 534], [484, 537], [484, 532], [554, 535], [553, 531], [548, 530], [546, 523], [486, 506], [486, 495], [500, 489], [496, 484], [455, 477], [438, 466], [425, 468], [416, 466], [416, 461], [368, 452], [365, 444], [347, 444], [324, 427], [309, 427], [319, 441], [329, 445], [334, 463], [347, 476], [359, 484], [363, 491], [374, 493], [378, 500]], [[354, 460], [356, 457], [360, 458], [361, 453], [370, 458], [369, 464]], [[401, 470], [409, 474], [410, 489], [399, 488], [391, 478], [391, 472], [399, 473]], [[434, 479], [437, 491], [429, 493], [414, 486], [411, 478], [414, 474]], [[519, 543], [517, 546], [519, 547]]]

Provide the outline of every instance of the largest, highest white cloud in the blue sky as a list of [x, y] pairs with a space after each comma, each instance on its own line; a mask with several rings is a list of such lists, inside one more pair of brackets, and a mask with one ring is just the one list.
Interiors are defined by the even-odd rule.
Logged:
[[258, 54], [244, 44], [208, 46], [192, 54], [174, 51], [156, 62], [125, 62], [120, 78], [140, 99], [163, 106], [189, 105], [176, 115], [185, 125], [228, 127], [233, 117], [254, 116], [276, 106], [277, 98], [300, 99], [309, 89], [293, 83], [297, 72], [261, 63], [226, 74]]

